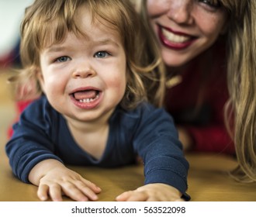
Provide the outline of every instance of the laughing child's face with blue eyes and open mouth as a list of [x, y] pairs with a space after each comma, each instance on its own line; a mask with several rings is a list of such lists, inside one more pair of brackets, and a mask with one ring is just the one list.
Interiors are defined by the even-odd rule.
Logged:
[[126, 55], [118, 33], [85, 7], [77, 24], [87, 36], [67, 33], [40, 53], [40, 84], [50, 104], [67, 119], [109, 118], [126, 90]]

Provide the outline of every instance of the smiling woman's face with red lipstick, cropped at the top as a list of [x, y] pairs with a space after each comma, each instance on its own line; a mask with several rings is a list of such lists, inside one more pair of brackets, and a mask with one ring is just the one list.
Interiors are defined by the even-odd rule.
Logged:
[[227, 12], [213, 0], [147, 0], [147, 12], [169, 67], [180, 67], [207, 50], [227, 22]]

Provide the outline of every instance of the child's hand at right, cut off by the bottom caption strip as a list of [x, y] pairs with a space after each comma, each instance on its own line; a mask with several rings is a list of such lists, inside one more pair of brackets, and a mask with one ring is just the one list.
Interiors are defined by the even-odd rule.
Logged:
[[118, 202], [184, 202], [178, 189], [162, 183], [146, 184], [116, 197]]

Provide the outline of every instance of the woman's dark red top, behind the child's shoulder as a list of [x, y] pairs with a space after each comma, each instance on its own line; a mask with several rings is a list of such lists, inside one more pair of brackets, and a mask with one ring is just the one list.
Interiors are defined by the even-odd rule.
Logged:
[[[176, 124], [192, 136], [195, 151], [235, 153], [223, 119], [228, 99], [226, 59], [223, 46], [217, 44], [193, 60], [180, 74], [182, 82], [167, 90], [166, 108]], [[199, 61], [204, 66], [199, 67]], [[198, 100], [199, 112], [195, 112]]]

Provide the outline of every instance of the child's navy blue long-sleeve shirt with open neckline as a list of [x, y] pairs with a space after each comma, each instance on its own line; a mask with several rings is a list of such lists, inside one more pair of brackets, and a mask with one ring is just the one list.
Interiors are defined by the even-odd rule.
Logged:
[[45, 96], [33, 102], [13, 126], [5, 146], [13, 173], [29, 183], [31, 169], [42, 160], [56, 159], [79, 166], [118, 167], [144, 160], [145, 184], [164, 183], [178, 188], [185, 199], [189, 163], [170, 115], [144, 103], [132, 111], [117, 107], [109, 119], [106, 150], [96, 160], [74, 141], [64, 117]]

